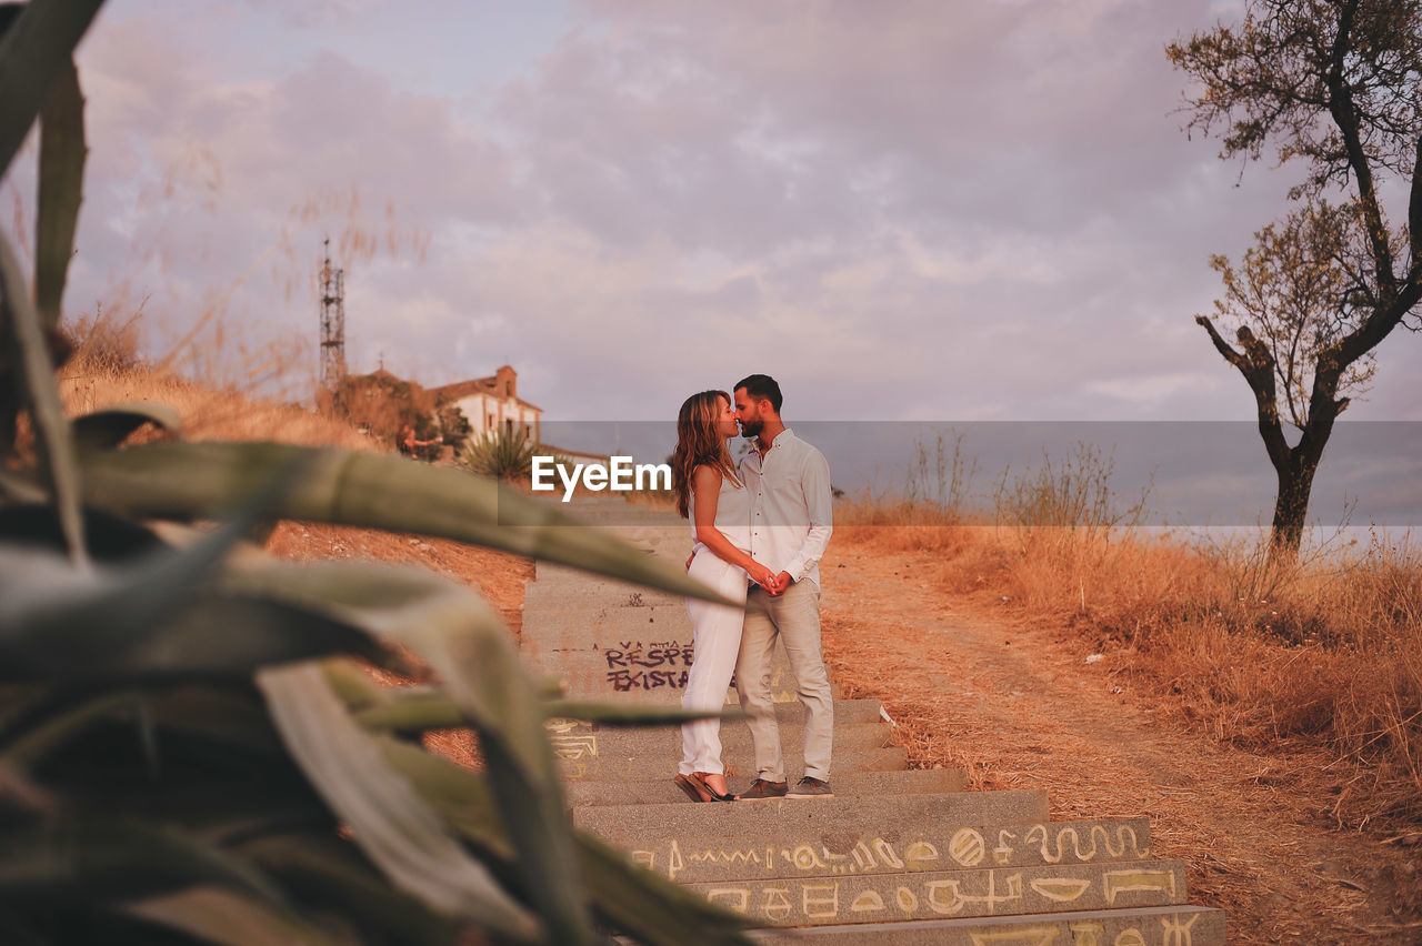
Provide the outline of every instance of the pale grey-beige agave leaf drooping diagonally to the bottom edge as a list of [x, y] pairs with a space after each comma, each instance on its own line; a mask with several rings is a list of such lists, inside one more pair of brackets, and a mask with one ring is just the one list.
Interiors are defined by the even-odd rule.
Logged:
[[384, 763], [319, 666], [260, 670], [257, 686], [292, 756], [397, 888], [435, 910], [466, 916], [505, 936], [538, 937], [536, 920]]

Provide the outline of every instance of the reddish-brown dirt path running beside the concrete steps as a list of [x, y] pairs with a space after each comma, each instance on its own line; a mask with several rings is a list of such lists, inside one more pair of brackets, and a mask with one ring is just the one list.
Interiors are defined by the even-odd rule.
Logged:
[[836, 543], [820, 568], [826, 659], [845, 696], [883, 702], [912, 764], [1044, 788], [1054, 818], [1149, 815], [1231, 943], [1422, 942], [1422, 848], [1334, 830], [1315, 759], [1187, 733], [1082, 638], [944, 592], [931, 554]]

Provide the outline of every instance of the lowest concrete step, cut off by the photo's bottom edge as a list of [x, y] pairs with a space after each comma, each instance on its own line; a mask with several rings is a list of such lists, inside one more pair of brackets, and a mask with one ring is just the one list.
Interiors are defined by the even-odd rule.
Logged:
[[1224, 910], [1145, 906], [993, 916], [843, 923], [808, 929], [751, 930], [766, 946], [1224, 946]]

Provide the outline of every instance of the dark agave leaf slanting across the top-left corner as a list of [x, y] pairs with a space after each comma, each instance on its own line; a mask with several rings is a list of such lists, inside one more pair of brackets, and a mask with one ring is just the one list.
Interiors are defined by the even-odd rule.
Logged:
[[0, 176], [102, 0], [30, 0], [0, 38]]

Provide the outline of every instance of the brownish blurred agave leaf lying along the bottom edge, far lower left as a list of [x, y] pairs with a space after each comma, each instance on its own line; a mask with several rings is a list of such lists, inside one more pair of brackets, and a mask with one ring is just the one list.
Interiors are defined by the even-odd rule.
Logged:
[[252, 943], [301, 943], [303, 946], [358, 945], [353, 936], [334, 936], [307, 923], [292, 910], [262, 903], [232, 891], [196, 886], [151, 896], [121, 908], [151, 923], [191, 933], [223, 946]]

